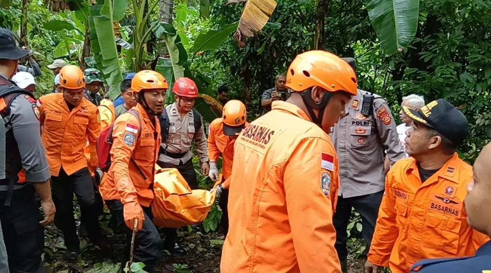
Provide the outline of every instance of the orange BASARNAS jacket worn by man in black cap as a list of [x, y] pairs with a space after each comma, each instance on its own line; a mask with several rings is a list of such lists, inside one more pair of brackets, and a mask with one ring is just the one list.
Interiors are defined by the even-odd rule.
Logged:
[[488, 236], [467, 224], [472, 167], [457, 153], [424, 183], [414, 158], [399, 160], [385, 185], [368, 260], [407, 273], [422, 259], [472, 256]]

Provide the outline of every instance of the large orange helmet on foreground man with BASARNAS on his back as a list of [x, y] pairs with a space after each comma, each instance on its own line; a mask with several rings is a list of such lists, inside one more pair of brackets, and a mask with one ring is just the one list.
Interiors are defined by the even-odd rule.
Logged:
[[302, 92], [314, 86], [329, 92], [356, 95], [358, 81], [353, 68], [340, 57], [320, 50], [297, 55], [286, 73], [286, 87]]

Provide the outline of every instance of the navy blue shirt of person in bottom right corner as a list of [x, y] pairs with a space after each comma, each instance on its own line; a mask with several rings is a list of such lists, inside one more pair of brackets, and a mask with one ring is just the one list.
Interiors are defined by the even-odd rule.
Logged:
[[429, 259], [415, 263], [411, 273], [491, 273], [491, 241], [483, 244], [474, 257]]

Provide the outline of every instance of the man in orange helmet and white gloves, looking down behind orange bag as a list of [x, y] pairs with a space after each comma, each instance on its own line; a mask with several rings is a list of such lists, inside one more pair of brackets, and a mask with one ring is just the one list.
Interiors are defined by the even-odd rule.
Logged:
[[[218, 168], [216, 162], [221, 154], [222, 157], [222, 182], [230, 177], [232, 172], [232, 162], [234, 159], [234, 143], [240, 132], [248, 125], [247, 112], [245, 105], [237, 100], [229, 101], [224, 106], [221, 118], [216, 118], [210, 123], [210, 133], [208, 134], [208, 156], [210, 157], [209, 177], [213, 181], [218, 180]], [[217, 194], [219, 205], [223, 214], [220, 224], [224, 229], [225, 237], [229, 230], [229, 216], [227, 210], [229, 190], [224, 186], [218, 186]]]

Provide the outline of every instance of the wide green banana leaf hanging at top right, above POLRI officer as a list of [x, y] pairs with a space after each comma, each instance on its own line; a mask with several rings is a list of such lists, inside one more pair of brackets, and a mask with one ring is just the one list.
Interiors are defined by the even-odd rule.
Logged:
[[419, 0], [368, 0], [368, 16], [386, 55], [402, 51], [416, 35]]

